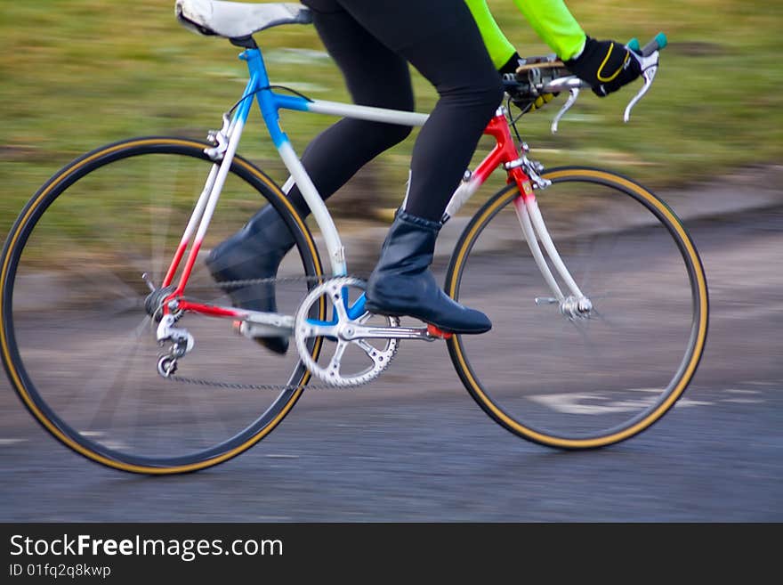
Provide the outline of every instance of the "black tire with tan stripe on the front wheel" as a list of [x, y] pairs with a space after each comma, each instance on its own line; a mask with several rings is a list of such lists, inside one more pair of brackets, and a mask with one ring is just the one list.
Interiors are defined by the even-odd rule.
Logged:
[[[521, 436], [533, 443], [539, 443], [549, 447], [563, 450], [597, 449], [609, 444], [625, 441], [652, 426], [674, 406], [674, 403], [679, 400], [686, 387], [690, 384], [690, 380], [693, 378], [693, 375], [698, 368], [698, 363], [704, 353], [706, 344], [709, 321], [709, 299], [706, 276], [696, 246], [690, 238], [690, 234], [682, 225], [682, 221], [665, 202], [658, 199], [654, 193], [641, 184], [635, 183], [633, 180], [623, 175], [593, 167], [557, 167], [547, 170], [544, 177], [552, 180], [553, 183], [583, 181], [587, 183], [602, 184], [623, 192], [642, 203], [642, 205], [656, 215], [658, 220], [666, 226], [667, 232], [674, 238], [677, 248], [679, 248], [687, 266], [691, 296], [696, 315], [691, 327], [687, 359], [683, 360], [679, 376], [676, 378], [677, 381], [674, 384], [672, 391], [666, 394], [666, 399], [661, 402], [655, 410], [652, 410], [647, 416], [641, 417], [641, 420], [634, 420], [634, 418], [632, 418], [624, 423], [622, 426], [623, 428], [612, 429], [611, 433], [606, 433], [605, 435], [576, 440], [565, 439], [560, 436], [548, 435], [520, 424], [499, 405], [494, 403], [481, 385], [475, 372], [472, 370], [470, 361], [464, 353], [461, 336], [453, 336], [448, 340], [448, 353], [457, 375], [462, 380], [469, 394], [471, 394], [472, 398], [479, 404], [480, 408], [501, 427], [504, 427], [514, 435]], [[480, 236], [480, 233], [486, 225], [492, 221], [492, 218], [500, 209], [508, 205], [517, 197], [518, 192], [518, 187], [514, 184], [498, 191], [480, 207], [472, 216], [471, 221], [465, 226], [448, 264], [445, 289], [450, 297], [455, 300], [458, 300], [459, 298], [459, 285], [464, 270], [465, 259], [470, 255], [472, 246]]]

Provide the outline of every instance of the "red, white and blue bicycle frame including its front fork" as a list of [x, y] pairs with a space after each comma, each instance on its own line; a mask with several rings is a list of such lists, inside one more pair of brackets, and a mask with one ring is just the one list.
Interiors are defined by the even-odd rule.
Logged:
[[[321, 199], [318, 190], [311, 181], [310, 175], [307, 174], [302, 162], [296, 155], [287, 134], [280, 127], [279, 110], [328, 114], [404, 126], [424, 126], [429, 117], [426, 114], [410, 111], [309, 100], [301, 96], [275, 93], [270, 87], [269, 76], [260, 49], [246, 49], [239, 54], [239, 59], [246, 61], [250, 79], [230, 122], [227, 118], [224, 119], [224, 126], [221, 132], [216, 135], [217, 146], [214, 149], [206, 150], [207, 154], [215, 160], [215, 163], [206, 179], [204, 190], [198, 197], [196, 206], [190, 215], [190, 220], [176, 249], [174, 259], [166, 272], [165, 279], [160, 285], [161, 288], [165, 288], [172, 284], [174, 276], [182, 263], [182, 258], [190, 246], [190, 253], [185, 260], [179, 283], [174, 292], [165, 298], [163, 309], [165, 314], [169, 314], [172, 311], [190, 311], [215, 317], [250, 321], [255, 324], [269, 326], [271, 329], [277, 329], [278, 331], [281, 329], [290, 331], [293, 328], [293, 318], [290, 316], [205, 305], [182, 299], [182, 293], [196, 263], [199, 249], [214, 214], [214, 208], [217, 205], [223, 184], [229, 174], [231, 162], [237, 152], [239, 140], [250, 114], [253, 97], [255, 97], [261, 110], [263, 121], [269, 131], [272, 142], [290, 173], [290, 178], [284, 185], [283, 190], [288, 191], [294, 183], [298, 185], [324, 237], [329, 264], [334, 276], [345, 276], [348, 273], [343, 244], [323, 199]], [[552, 271], [546, 263], [544, 254], [538, 245], [538, 239], [544, 244], [547, 256], [550, 257], [555, 269], [561, 275], [561, 279], [568, 285], [571, 294], [577, 299], [584, 299], [546, 231], [543, 217], [537, 207], [530, 176], [535, 177], [538, 186], [543, 187], [547, 182], [537, 176], [536, 168], [525, 156], [525, 153], [520, 153], [517, 150], [505, 118], [505, 109], [498, 108], [495, 116], [490, 119], [484, 134], [495, 138], [496, 144], [488, 156], [481, 161], [480, 165], [472, 173], [467, 173], [465, 180], [457, 187], [448, 203], [444, 221], [456, 214], [459, 208], [478, 191], [480, 186], [487, 181], [489, 175], [497, 167], [503, 166], [508, 174], [508, 183], [516, 183], [521, 193], [521, 197], [514, 201], [514, 207], [521, 223], [523, 235], [557, 301], [562, 303], [566, 297], [561, 292], [561, 288], [558, 286]], [[526, 147], [523, 147], [523, 149], [526, 151]], [[351, 307], [348, 307], [348, 310], [351, 319], [363, 314], [364, 295], [359, 297]]]

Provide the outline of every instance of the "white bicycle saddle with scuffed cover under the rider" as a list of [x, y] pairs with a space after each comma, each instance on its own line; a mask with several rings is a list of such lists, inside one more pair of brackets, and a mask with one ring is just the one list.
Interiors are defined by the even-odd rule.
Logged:
[[174, 7], [183, 26], [201, 35], [249, 37], [280, 24], [310, 24], [312, 15], [302, 4], [244, 4], [220, 0], [177, 0]]

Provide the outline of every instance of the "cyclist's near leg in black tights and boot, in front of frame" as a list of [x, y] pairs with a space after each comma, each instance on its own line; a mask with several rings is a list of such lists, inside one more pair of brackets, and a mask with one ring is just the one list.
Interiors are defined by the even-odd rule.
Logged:
[[487, 316], [448, 298], [429, 270], [448, 199], [503, 96], [479, 29], [463, 0], [337, 1], [440, 95], [416, 139], [408, 194], [367, 282], [367, 309], [457, 333], [487, 331]]

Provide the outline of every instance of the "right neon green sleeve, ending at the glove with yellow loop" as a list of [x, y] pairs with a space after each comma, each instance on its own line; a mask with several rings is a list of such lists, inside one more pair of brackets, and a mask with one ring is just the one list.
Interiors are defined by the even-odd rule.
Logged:
[[562, 60], [569, 60], [582, 51], [585, 31], [563, 0], [514, 0], [514, 4]]

